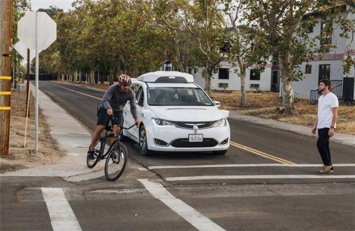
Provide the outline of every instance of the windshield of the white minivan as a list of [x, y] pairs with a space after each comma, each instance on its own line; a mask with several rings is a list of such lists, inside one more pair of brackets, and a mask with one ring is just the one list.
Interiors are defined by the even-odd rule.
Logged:
[[149, 88], [148, 104], [151, 106], [213, 106], [199, 88]]

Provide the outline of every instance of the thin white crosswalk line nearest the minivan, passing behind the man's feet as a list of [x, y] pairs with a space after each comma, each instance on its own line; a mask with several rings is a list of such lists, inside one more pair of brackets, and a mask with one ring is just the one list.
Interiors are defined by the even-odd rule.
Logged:
[[[150, 166], [151, 169], [180, 169], [180, 168], [236, 168], [236, 167], [322, 167], [320, 164], [230, 164], [230, 165], [176, 165]], [[355, 167], [355, 164], [333, 164], [334, 167]]]

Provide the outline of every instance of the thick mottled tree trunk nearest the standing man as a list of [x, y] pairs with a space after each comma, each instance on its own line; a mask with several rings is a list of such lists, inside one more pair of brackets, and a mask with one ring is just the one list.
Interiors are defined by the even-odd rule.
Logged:
[[291, 56], [285, 54], [279, 57], [280, 72], [281, 72], [281, 82], [282, 82], [282, 101], [283, 101], [283, 113], [284, 114], [295, 114], [295, 96], [293, 93], [293, 70], [290, 63]]

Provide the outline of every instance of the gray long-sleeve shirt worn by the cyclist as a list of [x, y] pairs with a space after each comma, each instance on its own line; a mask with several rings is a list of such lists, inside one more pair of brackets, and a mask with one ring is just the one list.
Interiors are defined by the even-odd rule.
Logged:
[[111, 108], [113, 111], [119, 111], [123, 110], [128, 100], [135, 120], [138, 118], [137, 107], [135, 105], [135, 93], [131, 88], [126, 93], [123, 93], [120, 91], [118, 84], [112, 85], [103, 95], [101, 106], [106, 110]]

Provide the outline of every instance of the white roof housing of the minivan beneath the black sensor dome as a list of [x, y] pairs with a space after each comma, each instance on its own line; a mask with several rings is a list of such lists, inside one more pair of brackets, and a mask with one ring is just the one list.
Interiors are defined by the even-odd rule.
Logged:
[[194, 76], [180, 71], [155, 71], [142, 74], [137, 80], [147, 83], [193, 83]]

